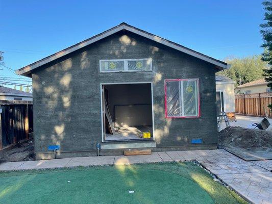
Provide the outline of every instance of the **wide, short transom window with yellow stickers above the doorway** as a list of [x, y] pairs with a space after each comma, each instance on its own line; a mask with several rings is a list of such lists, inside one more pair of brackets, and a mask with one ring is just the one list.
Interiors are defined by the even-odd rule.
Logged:
[[152, 59], [100, 60], [100, 72], [151, 71]]

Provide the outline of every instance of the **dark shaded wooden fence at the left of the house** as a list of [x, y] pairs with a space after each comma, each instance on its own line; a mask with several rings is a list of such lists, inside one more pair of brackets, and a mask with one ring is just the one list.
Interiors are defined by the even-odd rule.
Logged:
[[0, 100], [0, 149], [29, 139], [33, 131], [32, 101]]

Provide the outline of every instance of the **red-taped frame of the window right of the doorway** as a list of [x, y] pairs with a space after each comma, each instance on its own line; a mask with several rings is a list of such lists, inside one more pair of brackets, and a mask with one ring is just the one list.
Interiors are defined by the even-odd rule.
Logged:
[[[181, 82], [181, 81], [196, 81], [196, 87], [197, 87], [197, 96], [198, 96], [198, 107], [196, 106], [196, 108], [198, 108], [198, 114], [195, 116], [192, 115], [187, 115], [187, 116], [168, 116], [167, 114], [167, 85], [166, 82]], [[183, 83], [179, 83], [179, 91], [180, 91], [180, 100], [183, 98]], [[183, 104], [183, 103], [182, 103]], [[184, 106], [180, 104], [180, 108], [182, 110], [184, 110]], [[201, 117], [201, 109], [200, 109], [200, 83], [199, 83], [199, 79], [195, 78], [195, 79], [173, 79], [173, 80], [164, 80], [164, 110], [165, 110], [165, 118], [200, 118]], [[184, 113], [184, 111], [182, 111], [182, 113]]]

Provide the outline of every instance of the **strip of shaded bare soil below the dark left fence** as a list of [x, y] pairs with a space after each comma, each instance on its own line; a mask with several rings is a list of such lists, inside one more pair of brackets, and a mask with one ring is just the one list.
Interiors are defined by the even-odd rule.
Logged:
[[33, 142], [18, 143], [9, 149], [0, 152], [0, 163], [35, 160]]

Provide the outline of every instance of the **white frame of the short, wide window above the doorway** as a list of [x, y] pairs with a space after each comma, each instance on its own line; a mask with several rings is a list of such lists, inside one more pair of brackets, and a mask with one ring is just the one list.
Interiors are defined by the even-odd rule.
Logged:
[[[149, 70], [129, 70], [128, 61], [141, 61], [141, 60], [150, 60], [151, 61]], [[124, 66], [123, 70], [102, 70], [102, 62], [115, 62], [115, 61], [123, 61], [123, 66]], [[100, 73], [153, 71], [152, 61], [153, 61], [152, 58], [99, 60], [99, 71], [100, 71]]]

